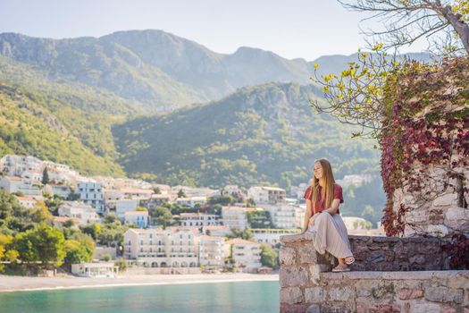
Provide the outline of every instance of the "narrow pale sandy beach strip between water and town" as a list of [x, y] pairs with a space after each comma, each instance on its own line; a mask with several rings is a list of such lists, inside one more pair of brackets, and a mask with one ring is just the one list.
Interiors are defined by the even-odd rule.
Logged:
[[227, 283], [278, 281], [279, 275], [259, 274], [193, 274], [193, 275], [120, 275], [116, 278], [75, 276], [24, 277], [0, 275], [0, 292], [28, 292], [76, 288], [103, 288], [177, 283]]

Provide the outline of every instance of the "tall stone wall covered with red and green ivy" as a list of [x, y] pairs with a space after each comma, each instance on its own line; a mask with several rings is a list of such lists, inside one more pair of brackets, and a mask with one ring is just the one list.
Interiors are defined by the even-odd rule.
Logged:
[[386, 233], [469, 236], [469, 57], [406, 63], [399, 75], [381, 134]]

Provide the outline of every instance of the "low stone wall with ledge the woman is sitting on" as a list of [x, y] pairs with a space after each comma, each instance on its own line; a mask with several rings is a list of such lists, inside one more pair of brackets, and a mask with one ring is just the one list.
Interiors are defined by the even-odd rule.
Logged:
[[[331, 273], [334, 259], [306, 234], [281, 241], [282, 313], [469, 313], [469, 271], [438, 270], [446, 267], [438, 239], [350, 236], [356, 263], [348, 273]], [[403, 271], [413, 269], [425, 271]]]

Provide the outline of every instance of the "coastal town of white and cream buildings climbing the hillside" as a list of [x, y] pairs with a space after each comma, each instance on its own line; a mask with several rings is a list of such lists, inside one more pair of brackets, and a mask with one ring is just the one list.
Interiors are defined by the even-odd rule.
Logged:
[[[281, 235], [301, 232], [306, 206], [306, 183], [289, 195], [272, 186], [169, 186], [87, 177], [67, 165], [16, 155], [2, 157], [0, 170], [0, 189], [14, 194], [22, 207], [46, 203], [54, 227], [80, 229], [96, 241], [92, 262], [71, 264], [71, 273], [81, 276], [115, 276], [120, 269], [134, 274], [271, 273], [278, 268]], [[346, 179], [360, 182], [360, 177]], [[371, 234], [357, 221], [346, 217], [350, 231]], [[117, 233], [99, 238], [99, 229], [110, 223], [120, 225]]]

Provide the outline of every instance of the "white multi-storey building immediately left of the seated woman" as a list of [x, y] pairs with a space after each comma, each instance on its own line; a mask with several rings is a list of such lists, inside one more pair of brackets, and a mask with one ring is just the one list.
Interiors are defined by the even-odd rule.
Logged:
[[301, 228], [305, 209], [288, 204], [263, 205], [271, 214], [272, 224], [277, 228]]

